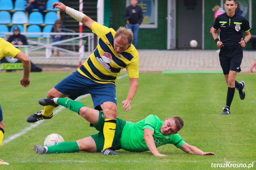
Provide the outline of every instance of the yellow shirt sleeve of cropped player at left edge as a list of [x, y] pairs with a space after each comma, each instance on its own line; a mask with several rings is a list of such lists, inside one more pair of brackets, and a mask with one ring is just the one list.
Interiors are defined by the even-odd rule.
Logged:
[[18, 48], [15, 48], [11, 43], [0, 38], [0, 59], [8, 56], [14, 58], [19, 52], [20, 50]]

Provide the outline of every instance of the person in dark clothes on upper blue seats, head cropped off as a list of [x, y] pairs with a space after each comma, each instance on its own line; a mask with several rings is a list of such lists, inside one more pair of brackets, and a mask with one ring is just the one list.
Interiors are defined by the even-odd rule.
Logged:
[[44, 10], [46, 9], [46, 1], [47, 0], [28, 0], [24, 8], [28, 12], [28, 15], [31, 13], [32, 9], [39, 9], [39, 12], [44, 14]]

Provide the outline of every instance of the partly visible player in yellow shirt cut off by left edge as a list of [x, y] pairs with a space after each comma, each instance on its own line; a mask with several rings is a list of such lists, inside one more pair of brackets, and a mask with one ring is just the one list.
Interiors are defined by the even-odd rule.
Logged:
[[[20, 79], [20, 84], [23, 87], [28, 87], [30, 84], [30, 60], [28, 56], [23, 54], [18, 48], [15, 48], [11, 43], [5, 41], [3, 38], [0, 38], [0, 59], [3, 57], [12, 56], [13, 58], [19, 59], [22, 61], [23, 65], [23, 77]], [[4, 121], [3, 121], [3, 112], [0, 105], [0, 147], [4, 138]], [[4, 162], [0, 159], [0, 165], [9, 165], [9, 163]]]

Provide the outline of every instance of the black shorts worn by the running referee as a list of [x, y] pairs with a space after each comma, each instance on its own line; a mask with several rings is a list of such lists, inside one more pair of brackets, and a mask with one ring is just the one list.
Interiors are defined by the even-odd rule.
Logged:
[[220, 66], [223, 74], [228, 75], [229, 71], [240, 72], [240, 65], [243, 59], [243, 47], [238, 46], [224, 46], [220, 48]]

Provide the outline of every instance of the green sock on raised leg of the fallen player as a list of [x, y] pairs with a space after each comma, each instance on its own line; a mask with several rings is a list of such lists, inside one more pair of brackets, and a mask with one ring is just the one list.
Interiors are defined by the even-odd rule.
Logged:
[[58, 98], [57, 103], [61, 106], [66, 107], [67, 109], [70, 109], [71, 111], [77, 112], [79, 114], [79, 110], [81, 107], [85, 106], [83, 103], [79, 101], [74, 101], [67, 98]]

